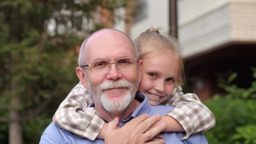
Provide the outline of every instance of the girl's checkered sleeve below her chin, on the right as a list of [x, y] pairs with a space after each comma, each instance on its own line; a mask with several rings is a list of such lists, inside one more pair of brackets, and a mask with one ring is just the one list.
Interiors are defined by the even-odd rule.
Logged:
[[182, 139], [187, 139], [191, 134], [207, 131], [215, 126], [213, 113], [201, 103], [196, 94], [183, 94], [181, 86], [174, 88], [172, 96], [164, 105], [175, 106], [174, 110], [167, 112], [175, 118], [186, 131]]

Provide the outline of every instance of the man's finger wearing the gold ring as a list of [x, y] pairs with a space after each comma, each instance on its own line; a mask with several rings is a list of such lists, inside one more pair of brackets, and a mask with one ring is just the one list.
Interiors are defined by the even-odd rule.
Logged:
[[148, 141], [148, 140], [152, 139], [153, 137], [155, 137], [156, 135], [158, 135], [161, 131], [163, 131], [164, 128], [166, 128], [166, 124], [160, 123], [156, 127], [146, 131], [144, 134], [142, 134], [142, 136], [145, 141]]

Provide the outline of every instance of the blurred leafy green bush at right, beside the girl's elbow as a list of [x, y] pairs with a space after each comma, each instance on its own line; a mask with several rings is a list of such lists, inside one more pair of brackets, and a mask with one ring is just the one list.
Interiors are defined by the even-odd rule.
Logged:
[[[256, 68], [252, 70], [256, 78]], [[204, 102], [216, 118], [215, 127], [205, 132], [209, 144], [256, 144], [256, 81], [250, 88], [238, 88], [231, 84], [236, 76], [220, 81], [226, 94]]]

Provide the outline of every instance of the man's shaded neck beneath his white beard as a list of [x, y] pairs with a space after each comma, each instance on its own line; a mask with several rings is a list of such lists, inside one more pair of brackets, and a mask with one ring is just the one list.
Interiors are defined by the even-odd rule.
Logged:
[[124, 111], [105, 111], [105, 109], [95, 103], [95, 110], [98, 112], [98, 115], [106, 121], [112, 121], [115, 117], [118, 117], [121, 121], [122, 119], [128, 118], [140, 104], [139, 101], [134, 99]]

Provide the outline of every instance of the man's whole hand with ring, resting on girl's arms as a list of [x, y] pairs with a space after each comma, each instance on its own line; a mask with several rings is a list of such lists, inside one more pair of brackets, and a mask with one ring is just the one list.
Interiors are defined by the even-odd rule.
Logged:
[[[105, 131], [105, 144], [164, 144], [161, 135], [158, 135], [164, 128], [165, 123], [149, 128], [161, 119], [160, 115], [141, 115], [132, 119], [121, 128], [118, 128], [119, 119], [116, 117], [108, 123]], [[158, 138], [154, 138], [158, 135]]]

